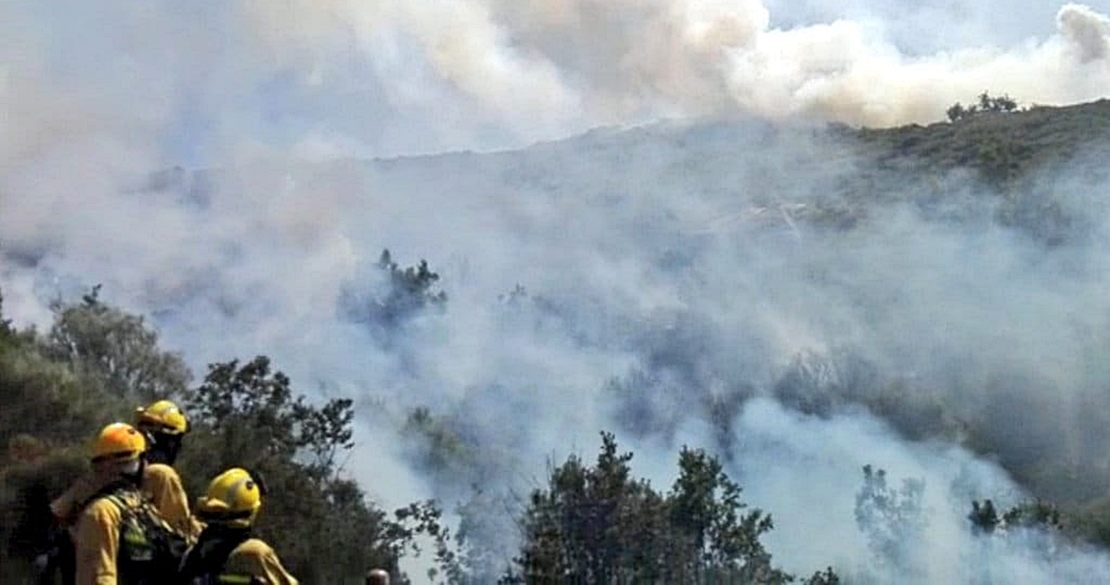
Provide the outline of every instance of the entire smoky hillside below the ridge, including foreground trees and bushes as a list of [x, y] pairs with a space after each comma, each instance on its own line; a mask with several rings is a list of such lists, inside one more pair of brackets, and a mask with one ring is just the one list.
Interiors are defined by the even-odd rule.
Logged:
[[[776, 582], [751, 545], [766, 534], [793, 574], [890, 582], [925, 571], [906, 549], [982, 544], [968, 513], [985, 498], [1035, 502], [998, 525], [1054, 525], [1059, 505], [1057, 532], [1107, 545], [1108, 151], [1102, 100], [155, 173], [97, 201], [103, 225], [127, 212], [140, 231], [81, 215], [0, 249], [22, 306], [28, 290], [58, 299], [49, 326], [0, 327], [0, 534], [26, 561], [28, 501], [78, 472], [95, 425], [167, 393], [195, 413], [186, 488], [240, 460], [264, 468], [281, 488], [260, 529], [302, 583], [400, 576], [417, 533], [442, 545], [423, 558], [445, 554], [443, 510], [474, 547], [447, 558], [486, 577], [667, 555], [678, 574], [736, 575], [748, 555]], [[142, 314], [58, 282], [105, 282]], [[134, 343], [104, 343], [120, 339]], [[670, 484], [676, 454], [686, 484]], [[774, 532], [738, 515], [740, 485]], [[692, 502], [731, 535], [708, 565]], [[1067, 563], [1037, 556], [1058, 544], [1016, 538], [990, 566], [1035, 558], [1060, 577]]]

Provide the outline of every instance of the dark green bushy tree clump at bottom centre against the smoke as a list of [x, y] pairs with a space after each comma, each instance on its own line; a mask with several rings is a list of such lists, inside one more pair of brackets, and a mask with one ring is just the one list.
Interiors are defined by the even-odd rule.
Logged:
[[716, 457], [684, 448], [666, 494], [634, 478], [630, 460], [603, 433], [594, 465], [571, 456], [554, 468], [528, 500], [521, 555], [503, 583], [793, 581], [759, 542], [770, 516], [745, 511], [739, 485]]

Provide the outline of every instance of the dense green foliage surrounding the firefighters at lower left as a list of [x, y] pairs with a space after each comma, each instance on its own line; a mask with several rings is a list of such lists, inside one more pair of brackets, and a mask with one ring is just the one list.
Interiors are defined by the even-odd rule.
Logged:
[[46, 334], [0, 327], [0, 581], [22, 583], [43, 535], [46, 506], [85, 467], [84, 445], [104, 424], [130, 421], [155, 397], [178, 401], [192, 427], [176, 463], [199, 495], [230, 466], [260, 473], [271, 492], [258, 533], [302, 583], [353, 583], [370, 567], [391, 569], [420, 534], [438, 534], [434, 503], [389, 514], [344, 473], [353, 447], [353, 403], [295, 395], [269, 359], [209, 366], [189, 387], [180, 356], [158, 346], [141, 317], [103, 303], [57, 303]]

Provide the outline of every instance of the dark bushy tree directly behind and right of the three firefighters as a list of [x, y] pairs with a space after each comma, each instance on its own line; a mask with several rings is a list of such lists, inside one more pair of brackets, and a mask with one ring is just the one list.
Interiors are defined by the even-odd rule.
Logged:
[[354, 446], [351, 400], [310, 404], [256, 356], [211, 364], [184, 403], [195, 425], [180, 462], [190, 492], [231, 466], [260, 473], [270, 495], [259, 529], [303, 583], [396, 565], [386, 514], [337, 467], [337, 455]]

